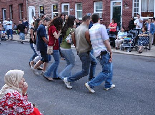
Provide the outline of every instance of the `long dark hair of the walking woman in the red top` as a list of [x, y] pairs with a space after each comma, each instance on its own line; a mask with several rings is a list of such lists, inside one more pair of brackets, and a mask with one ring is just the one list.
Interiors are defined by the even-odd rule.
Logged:
[[51, 22], [50, 22], [50, 24], [48, 26], [48, 29], [49, 29], [50, 26], [53, 26], [54, 25], [56, 27], [56, 29], [58, 31], [60, 31], [62, 29], [62, 23], [63, 23], [62, 18], [55, 17], [53, 20], [51, 20]]

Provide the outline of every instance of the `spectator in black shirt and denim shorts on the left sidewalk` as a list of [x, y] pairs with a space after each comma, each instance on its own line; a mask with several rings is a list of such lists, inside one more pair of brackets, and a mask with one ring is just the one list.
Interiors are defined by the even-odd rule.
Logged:
[[25, 25], [22, 24], [22, 21], [19, 20], [19, 25], [17, 26], [17, 30], [19, 33], [20, 42], [23, 44], [23, 40], [25, 40]]

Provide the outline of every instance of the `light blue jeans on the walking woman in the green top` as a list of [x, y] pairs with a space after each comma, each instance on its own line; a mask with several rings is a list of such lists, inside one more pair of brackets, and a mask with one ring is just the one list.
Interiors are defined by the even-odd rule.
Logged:
[[71, 70], [75, 65], [75, 56], [72, 52], [72, 49], [61, 50], [61, 53], [67, 62], [67, 66], [65, 67], [65, 69], [59, 73], [59, 77], [63, 79], [64, 77], [71, 76]]

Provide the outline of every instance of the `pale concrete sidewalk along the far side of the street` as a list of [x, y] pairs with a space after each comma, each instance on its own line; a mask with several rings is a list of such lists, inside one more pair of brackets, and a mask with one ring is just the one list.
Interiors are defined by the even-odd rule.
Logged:
[[[24, 42], [29, 42], [29, 35], [27, 35], [27, 37], [25, 37]], [[20, 41], [19, 40], [19, 35], [13, 35], [13, 40], [15, 41]], [[154, 57], [155, 58], [155, 46], [152, 46], [151, 50], [144, 50], [143, 53], [139, 54], [137, 51], [135, 51], [135, 49], [131, 52], [127, 52], [126, 50], [121, 51], [121, 50], [116, 50], [116, 49], [112, 49], [112, 51], [114, 53], [122, 53], [122, 54], [128, 54], [128, 55], [136, 55], [136, 56], [146, 56], [146, 57]]]

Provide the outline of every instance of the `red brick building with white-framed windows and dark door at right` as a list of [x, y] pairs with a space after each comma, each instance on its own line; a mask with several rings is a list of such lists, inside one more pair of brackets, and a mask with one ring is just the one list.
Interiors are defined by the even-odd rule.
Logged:
[[155, 16], [155, 0], [60, 0], [61, 12], [75, 15], [98, 13], [102, 23], [109, 25], [115, 18], [118, 25], [128, 27], [131, 17], [139, 13], [144, 19]]

